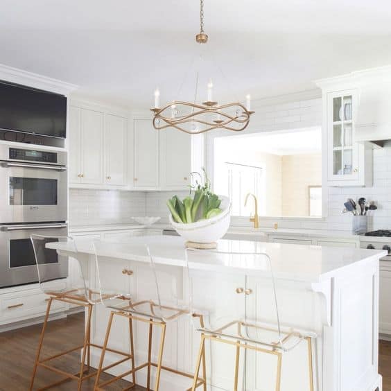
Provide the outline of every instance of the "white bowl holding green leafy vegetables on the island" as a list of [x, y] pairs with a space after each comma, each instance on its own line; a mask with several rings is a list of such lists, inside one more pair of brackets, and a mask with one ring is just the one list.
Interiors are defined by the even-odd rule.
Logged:
[[214, 243], [227, 234], [231, 216], [231, 201], [224, 195], [219, 195], [221, 200], [220, 209], [223, 211], [218, 216], [199, 220], [195, 223], [175, 223], [171, 214], [168, 216], [171, 225], [180, 236], [193, 243]]

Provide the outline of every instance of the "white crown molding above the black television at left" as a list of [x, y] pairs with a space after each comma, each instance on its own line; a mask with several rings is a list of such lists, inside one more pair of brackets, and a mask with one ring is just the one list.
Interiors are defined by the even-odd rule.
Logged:
[[0, 80], [26, 85], [28, 87], [37, 89], [43, 89], [44, 91], [55, 92], [65, 96], [78, 89], [78, 85], [48, 78], [46, 76], [24, 71], [22, 69], [8, 67], [7, 65], [3, 64], [0, 64]]

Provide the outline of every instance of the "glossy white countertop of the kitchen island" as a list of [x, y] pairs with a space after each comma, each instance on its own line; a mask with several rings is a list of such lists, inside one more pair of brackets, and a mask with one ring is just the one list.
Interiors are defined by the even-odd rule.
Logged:
[[[101, 241], [101, 243], [103, 243], [100, 249], [101, 254], [112, 259], [149, 261], [145, 250], [147, 244], [150, 246], [151, 254], [155, 257], [155, 262], [184, 266], [184, 239], [178, 236], [146, 236], [131, 238], [121, 243], [110, 241]], [[76, 241], [76, 244], [79, 253], [94, 254], [92, 241], [80, 239]], [[73, 247], [66, 243], [48, 243], [47, 247], [74, 251]], [[227, 240], [218, 241], [218, 250], [266, 253], [272, 259], [272, 269], [276, 277], [311, 283], [329, 279], [338, 274], [340, 270], [349, 272], [349, 268], [358, 262], [376, 261], [386, 255], [383, 250]], [[217, 269], [222, 272], [244, 272], [246, 274], [265, 272], [266, 262], [259, 261], [258, 257], [248, 254], [240, 257], [200, 251], [193, 254], [191, 261], [200, 269]]]

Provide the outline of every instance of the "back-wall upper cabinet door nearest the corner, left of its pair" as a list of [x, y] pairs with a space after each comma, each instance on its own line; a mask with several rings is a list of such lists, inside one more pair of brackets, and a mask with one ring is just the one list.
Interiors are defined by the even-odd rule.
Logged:
[[159, 186], [159, 132], [149, 119], [134, 120], [134, 187]]

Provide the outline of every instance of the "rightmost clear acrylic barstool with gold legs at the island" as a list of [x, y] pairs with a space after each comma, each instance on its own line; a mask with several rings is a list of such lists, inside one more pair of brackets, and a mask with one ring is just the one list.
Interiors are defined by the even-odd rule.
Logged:
[[[267, 297], [266, 311], [259, 309], [257, 315], [249, 318], [248, 311], [245, 308], [240, 309], [235, 316], [232, 315], [232, 306], [227, 308], [222, 313], [222, 309], [216, 303], [218, 299], [214, 299], [214, 294], [211, 293], [208, 297], [208, 303], [205, 303], [205, 284], [206, 280], [200, 275], [200, 270], [196, 267], [197, 260], [207, 260], [208, 263], [216, 263], [218, 268], [211, 268], [207, 272], [207, 281], [209, 286], [213, 286], [212, 290], [216, 290], [216, 296], [223, 295], [229, 297], [231, 292], [223, 292], [224, 288], [232, 288], [229, 285], [220, 284], [222, 273], [225, 265], [243, 268], [243, 265], [251, 265], [252, 275], [247, 275], [243, 271], [243, 281], [249, 281], [249, 278], [254, 278], [254, 272], [257, 273], [264, 281], [264, 297]], [[214, 250], [185, 250], [186, 268], [189, 272], [189, 306], [191, 313], [200, 313], [202, 311], [204, 323], [199, 322], [199, 316], [193, 316], [193, 329], [201, 334], [200, 349], [195, 367], [195, 375], [193, 387], [195, 390], [197, 384], [197, 376], [200, 371], [200, 365], [205, 362], [205, 341], [209, 340], [213, 343], [223, 343], [231, 345], [236, 349], [234, 358], [234, 381], [232, 390], [238, 390], [238, 372], [239, 358], [241, 349], [245, 351], [256, 351], [263, 354], [270, 354], [277, 358], [277, 370], [275, 379], [275, 391], [281, 390], [281, 366], [284, 353], [295, 349], [301, 342], [307, 344], [307, 354], [303, 360], [308, 362], [308, 372], [303, 374], [308, 380], [309, 390], [314, 390], [314, 372], [313, 372], [313, 341], [316, 334], [311, 331], [296, 330], [290, 327], [283, 327], [280, 324], [279, 307], [277, 303], [277, 291], [275, 277], [272, 272], [272, 261], [268, 254], [261, 252], [223, 252]], [[215, 271], [214, 271], [215, 270]], [[216, 270], [219, 270], [216, 272]], [[243, 270], [243, 269], [242, 269]], [[251, 288], [239, 286], [235, 289], [235, 294], [252, 294]], [[267, 295], [267, 296], [266, 296]], [[265, 302], [263, 302], [265, 304]], [[224, 311], [226, 313], [224, 313]], [[201, 359], [202, 358], [202, 359]], [[203, 362], [202, 362], [203, 360]], [[206, 379], [208, 378], [206, 376]], [[204, 374], [205, 376], [205, 374]], [[207, 381], [208, 383], [208, 381]], [[209, 383], [208, 383], [209, 385]], [[231, 388], [230, 388], [231, 389]]]

